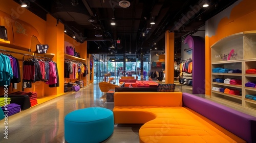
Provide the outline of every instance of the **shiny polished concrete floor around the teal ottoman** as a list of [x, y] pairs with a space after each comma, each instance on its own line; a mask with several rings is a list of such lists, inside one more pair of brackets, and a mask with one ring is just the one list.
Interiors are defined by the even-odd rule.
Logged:
[[[177, 84], [175, 91], [191, 93], [191, 86]], [[203, 96], [202, 96], [203, 97]], [[98, 84], [90, 84], [78, 92], [69, 92], [46, 103], [8, 117], [8, 139], [4, 138], [4, 120], [0, 121], [0, 142], [65, 142], [64, 118], [77, 109], [104, 107], [113, 109], [113, 103], [107, 103]], [[138, 131], [142, 125], [122, 125], [114, 127], [112, 136], [103, 142], [126, 143], [139, 142]]]

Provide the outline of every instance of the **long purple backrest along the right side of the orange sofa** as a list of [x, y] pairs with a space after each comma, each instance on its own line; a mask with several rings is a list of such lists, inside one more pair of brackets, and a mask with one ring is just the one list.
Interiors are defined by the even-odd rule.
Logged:
[[256, 142], [256, 117], [189, 93], [182, 93], [182, 100], [183, 106], [205, 116], [249, 143]]

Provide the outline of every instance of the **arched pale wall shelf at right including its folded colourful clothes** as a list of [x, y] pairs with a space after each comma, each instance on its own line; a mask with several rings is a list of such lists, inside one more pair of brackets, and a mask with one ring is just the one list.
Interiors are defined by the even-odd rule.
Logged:
[[212, 99], [256, 111], [255, 39], [256, 31], [241, 32], [211, 46]]

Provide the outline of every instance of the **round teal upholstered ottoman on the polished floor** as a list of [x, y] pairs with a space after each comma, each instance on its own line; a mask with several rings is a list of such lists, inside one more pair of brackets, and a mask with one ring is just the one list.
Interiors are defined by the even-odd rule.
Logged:
[[114, 116], [113, 112], [106, 108], [84, 108], [68, 113], [64, 126], [66, 142], [97, 143], [112, 135]]

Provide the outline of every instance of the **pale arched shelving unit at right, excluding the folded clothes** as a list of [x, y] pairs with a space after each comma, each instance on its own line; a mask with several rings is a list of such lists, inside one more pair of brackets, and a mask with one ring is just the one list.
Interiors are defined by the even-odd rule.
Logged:
[[[231, 54], [230, 54], [231, 53]], [[242, 74], [212, 73], [216, 67], [240, 69]], [[247, 31], [225, 37], [211, 46], [211, 88], [223, 87], [241, 91], [240, 96], [211, 91], [211, 98], [238, 108], [256, 111], [256, 101], [245, 99], [246, 94], [256, 94], [256, 88], [245, 87], [247, 82], [256, 82], [256, 74], [245, 74], [245, 70], [256, 68], [256, 31]], [[237, 78], [242, 85], [212, 82], [215, 78]]]

